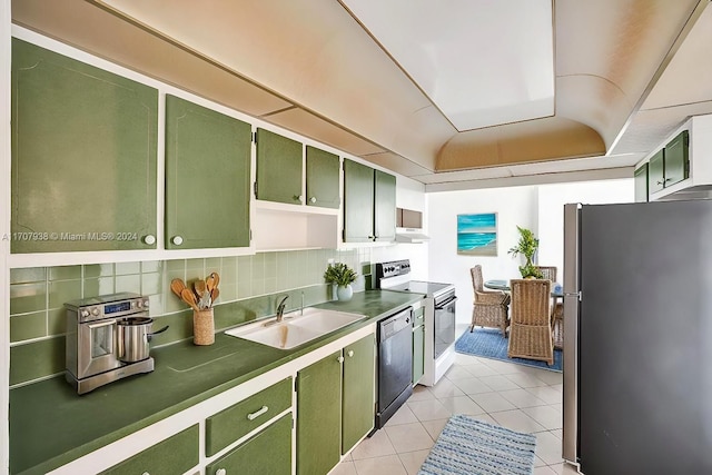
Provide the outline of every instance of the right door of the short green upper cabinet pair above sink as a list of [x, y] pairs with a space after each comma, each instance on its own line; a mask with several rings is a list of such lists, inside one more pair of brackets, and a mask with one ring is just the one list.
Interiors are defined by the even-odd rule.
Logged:
[[307, 205], [338, 209], [338, 155], [307, 146]]

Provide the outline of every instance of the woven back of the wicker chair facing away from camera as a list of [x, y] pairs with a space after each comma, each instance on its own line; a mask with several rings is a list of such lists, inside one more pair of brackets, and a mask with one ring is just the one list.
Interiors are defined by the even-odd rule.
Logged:
[[511, 318], [513, 324], [548, 325], [552, 281], [548, 279], [512, 279]]

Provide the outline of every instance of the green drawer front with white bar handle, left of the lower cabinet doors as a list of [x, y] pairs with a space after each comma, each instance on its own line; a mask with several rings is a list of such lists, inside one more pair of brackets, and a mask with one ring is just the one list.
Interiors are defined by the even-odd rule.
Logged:
[[205, 452], [217, 454], [291, 407], [291, 378], [284, 379], [206, 419]]

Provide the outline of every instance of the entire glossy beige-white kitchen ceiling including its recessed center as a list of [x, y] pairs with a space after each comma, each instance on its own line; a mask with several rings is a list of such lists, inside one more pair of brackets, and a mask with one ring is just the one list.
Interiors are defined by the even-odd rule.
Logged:
[[632, 176], [712, 113], [709, 4], [13, 0], [12, 18], [436, 191]]

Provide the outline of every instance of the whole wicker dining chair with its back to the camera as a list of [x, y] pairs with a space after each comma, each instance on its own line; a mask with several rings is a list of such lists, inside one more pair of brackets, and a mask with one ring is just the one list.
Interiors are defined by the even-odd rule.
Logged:
[[510, 323], [510, 358], [540, 359], [554, 363], [551, 327], [551, 288], [548, 279], [513, 279]]

